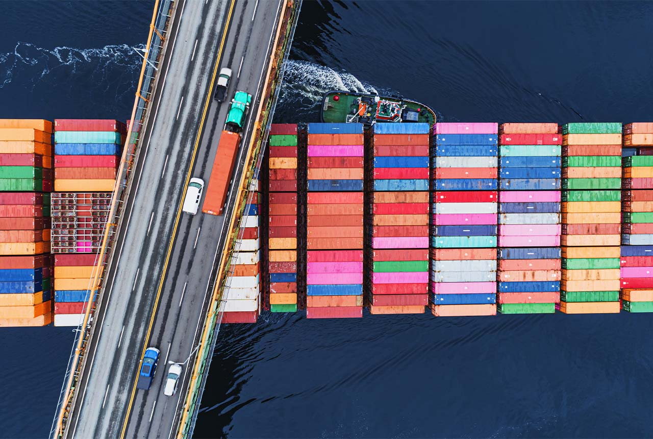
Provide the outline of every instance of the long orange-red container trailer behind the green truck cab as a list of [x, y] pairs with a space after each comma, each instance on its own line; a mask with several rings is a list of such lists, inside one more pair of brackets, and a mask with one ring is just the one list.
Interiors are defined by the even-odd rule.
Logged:
[[225, 130], [220, 134], [211, 176], [206, 185], [206, 195], [202, 204], [202, 212], [205, 214], [222, 214], [227, 201], [229, 183], [236, 164], [239, 146], [240, 133]]

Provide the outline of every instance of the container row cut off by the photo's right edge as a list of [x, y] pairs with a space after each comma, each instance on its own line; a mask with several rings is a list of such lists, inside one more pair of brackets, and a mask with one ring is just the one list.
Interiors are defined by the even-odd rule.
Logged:
[[653, 312], [653, 123], [628, 123], [622, 159], [621, 299], [628, 312]]

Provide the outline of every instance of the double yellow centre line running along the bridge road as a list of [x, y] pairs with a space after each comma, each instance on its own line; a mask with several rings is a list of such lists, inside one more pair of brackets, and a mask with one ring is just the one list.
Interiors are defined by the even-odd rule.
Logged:
[[[213, 90], [213, 85], [215, 83], [215, 75], [217, 74], [217, 67], [220, 64], [220, 59], [222, 57], [222, 51], [225, 46], [225, 41], [227, 39], [227, 31], [229, 31], [229, 24], [231, 24], [231, 15], [234, 10], [234, 3], [236, 0], [231, 0], [231, 5], [229, 7], [229, 14], [227, 15], [227, 21], [225, 22], [225, 31], [222, 34], [222, 40], [220, 41], [220, 48], [218, 49], [217, 52], [217, 59], [215, 59], [215, 66], [213, 69], [213, 74], [211, 76], [211, 83], [208, 89], [208, 95], [206, 96], [206, 102], [204, 103], [204, 110], [202, 110], [202, 118], [200, 119], [200, 127], [199, 131], [197, 132], [197, 138], [195, 138], [195, 146], [193, 147], [193, 155], [191, 155], [191, 165], [188, 169], [188, 173], [186, 174], [186, 182], [183, 185], [183, 187], [188, 186], [188, 182], [191, 179], [191, 172], [193, 171], [193, 165], [195, 165], [195, 156], [197, 155], [197, 148], [199, 147], [200, 143], [200, 138], [202, 137], [202, 129], [204, 129], [204, 120], [206, 119], [206, 112], [208, 111], [209, 104], [211, 103], [211, 91]], [[161, 290], [163, 289], [163, 281], [165, 280], [165, 275], [168, 270], [168, 262], [170, 261], [170, 254], [172, 254], [172, 247], [174, 244], [174, 238], [177, 235], [177, 227], [179, 225], [179, 219], [182, 214], [182, 206], [183, 206], [183, 199], [185, 199], [186, 193], [183, 191], [182, 195], [182, 200], [179, 203], [179, 206], [177, 208], [177, 216], [174, 220], [174, 228], [172, 229], [172, 236], [170, 237], [170, 244], [168, 244], [168, 252], [165, 257], [165, 263], [163, 264], [163, 274], [161, 274], [161, 281], [159, 282], [159, 288], [157, 289], [157, 297], [154, 302], [154, 308], [152, 310], [152, 314], [150, 316], [150, 325], [148, 326], [148, 333], [146, 334], [145, 337], [145, 344], [143, 346], [143, 350], [140, 354], [140, 358], [142, 358], [145, 355], [145, 351], [148, 348], [148, 340], [150, 340], [150, 335], [152, 331], [152, 327], [154, 325], [154, 317], [157, 314], [157, 308], [159, 307], [159, 299], [161, 298]], [[140, 372], [140, 371], [139, 371]], [[134, 396], [136, 395], [136, 382], [138, 381], [138, 374], [139, 372], [136, 373], [136, 378], [134, 379], [134, 382], [132, 383], [132, 389], [131, 389], [131, 396], [129, 397], [129, 404], [127, 404], [127, 413], [125, 414], [125, 421], [123, 422], [123, 428], [122, 431], [120, 432], [120, 438], [125, 437], [125, 432], [127, 431], [127, 423], [129, 421], [129, 415], [131, 414], [131, 408], [134, 403]]]

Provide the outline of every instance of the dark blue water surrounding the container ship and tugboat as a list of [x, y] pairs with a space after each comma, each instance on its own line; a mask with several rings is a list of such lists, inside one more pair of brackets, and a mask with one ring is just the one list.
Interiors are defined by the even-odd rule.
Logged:
[[[150, 3], [3, 8], [0, 117], [129, 116]], [[644, 2], [306, 1], [276, 122], [316, 121], [334, 88], [447, 121], [650, 121], [652, 20]], [[650, 437], [652, 331], [628, 314], [268, 314], [221, 329], [195, 436]], [[71, 342], [0, 329], [0, 435], [46, 434]]]

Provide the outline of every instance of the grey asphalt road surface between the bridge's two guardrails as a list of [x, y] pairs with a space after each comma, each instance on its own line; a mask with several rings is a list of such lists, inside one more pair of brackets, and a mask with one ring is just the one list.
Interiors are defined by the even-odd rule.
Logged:
[[[171, 437], [176, 431], [189, 364], [195, 358], [206, 302], [225, 244], [225, 218], [231, 216], [234, 189], [261, 99], [266, 54], [270, 53], [280, 5], [280, 0], [238, 0], [229, 22], [231, 0], [180, 0], [177, 5], [142, 138], [145, 149], [136, 164], [135, 186], [125, 206], [103, 306], [95, 317], [97, 327], [69, 421], [69, 437], [118, 438], [123, 427], [127, 438]], [[188, 170], [192, 166], [191, 176], [208, 181], [227, 114], [227, 103], [220, 105], [210, 99], [195, 163], [191, 163], [225, 24], [219, 67], [233, 71], [229, 97], [236, 89], [253, 95], [229, 208], [220, 217], [182, 214], [174, 232]], [[166, 265], [171, 238], [174, 242]], [[146, 346], [161, 350], [148, 391], [134, 388]], [[163, 395], [168, 361], [185, 362], [174, 397]]]

